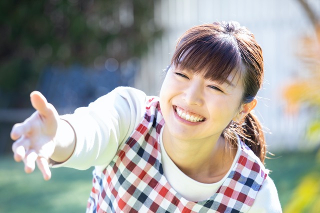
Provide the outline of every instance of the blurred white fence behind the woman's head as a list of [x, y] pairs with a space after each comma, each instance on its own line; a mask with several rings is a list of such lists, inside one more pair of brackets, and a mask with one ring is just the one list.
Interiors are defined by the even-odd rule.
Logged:
[[[320, 0], [308, 2], [320, 14]], [[270, 150], [304, 146], [309, 115], [303, 111], [287, 114], [281, 96], [285, 83], [302, 71], [295, 56], [297, 40], [313, 33], [297, 0], [161, 0], [155, 6], [154, 20], [164, 28], [164, 33], [149, 45], [135, 87], [147, 94], [158, 94], [162, 70], [170, 61], [176, 39], [186, 29], [216, 20], [236, 20], [254, 33], [263, 49], [265, 82], [258, 93], [260, 100], [255, 112], [271, 132], [266, 135]]]

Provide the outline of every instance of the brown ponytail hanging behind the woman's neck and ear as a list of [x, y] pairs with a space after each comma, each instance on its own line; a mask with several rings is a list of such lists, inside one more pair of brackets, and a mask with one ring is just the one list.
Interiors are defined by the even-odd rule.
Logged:
[[266, 144], [262, 126], [257, 117], [249, 112], [245, 116], [245, 120], [241, 127], [240, 138], [241, 140], [258, 156], [261, 162], [264, 162], [266, 154]]

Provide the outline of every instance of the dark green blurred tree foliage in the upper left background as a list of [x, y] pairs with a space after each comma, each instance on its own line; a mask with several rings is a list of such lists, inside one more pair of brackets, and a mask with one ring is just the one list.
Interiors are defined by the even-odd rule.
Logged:
[[47, 65], [141, 56], [161, 32], [155, 1], [0, 1], [0, 107], [24, 106]]

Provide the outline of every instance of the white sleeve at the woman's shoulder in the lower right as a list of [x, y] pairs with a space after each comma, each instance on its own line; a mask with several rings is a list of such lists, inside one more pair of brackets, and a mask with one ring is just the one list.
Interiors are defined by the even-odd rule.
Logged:
[[279, 201], [278, 192], [273, 183], [273, 180], [267, 176], [263, 182], [260, 190], [258, 191], [253, 205], [248, 213], [278, 213], [282, 212]]

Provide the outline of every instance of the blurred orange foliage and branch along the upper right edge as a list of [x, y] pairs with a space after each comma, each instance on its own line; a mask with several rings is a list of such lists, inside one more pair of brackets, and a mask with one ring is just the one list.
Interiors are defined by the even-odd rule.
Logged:
[[320, 142], [320, 17], [306, 0], [298, 0], [314, 26], [313, 35], [305, 35], [297, 45], [297, 57], [304, 67], [300, 75], [284, 88], [289, 110], [307, 106], [314, 113], [307, 131], [309, 140]]

